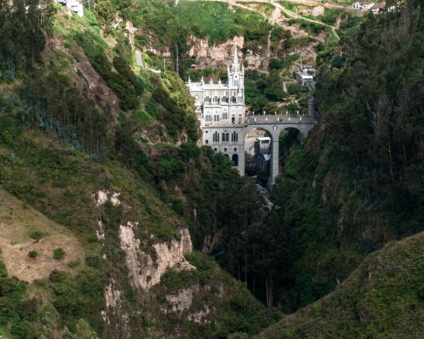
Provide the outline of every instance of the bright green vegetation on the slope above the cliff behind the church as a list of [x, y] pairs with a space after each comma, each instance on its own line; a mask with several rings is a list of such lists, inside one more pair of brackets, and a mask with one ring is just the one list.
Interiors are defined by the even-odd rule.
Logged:
[[[177, 6], [170, 6], [167, 1], [154, 0], [143, 2], [131, 16], [141, 28], [153, 32], [157, 42], [167, 46], [183, 42], [187, 38], [183, 34], [208, 37], [211, 43], [244, 35], [247, 41], [266, 44], [264, 38], [271, 29], [260, 14], [237, 7], [229, 11], [223, 2], [179, 1]], [[217, 21], [220, 25], [216, 25]]]

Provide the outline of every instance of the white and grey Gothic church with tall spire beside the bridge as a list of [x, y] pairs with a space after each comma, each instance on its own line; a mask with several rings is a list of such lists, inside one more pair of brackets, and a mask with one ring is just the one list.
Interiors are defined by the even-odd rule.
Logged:
[[240, 175], [244, 175], [245, 69], [240, 67], [236, 46], [227, 72], [228, 83], [205, 83], [202, 77], [198, 83], [189, 79], [187, 86], [195, 100], [202, 144], [230, 157]]

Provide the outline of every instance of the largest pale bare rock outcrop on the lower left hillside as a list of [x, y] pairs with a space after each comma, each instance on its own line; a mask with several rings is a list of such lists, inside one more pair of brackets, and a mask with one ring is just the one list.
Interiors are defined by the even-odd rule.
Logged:
[[134, 233], [134, 227], [137, 225], [137, 222], [127, 222], [126, 225], [119, 227], [121, 248], [125, 251], [125, 263], [134, 287], [150, 289], [160, 283], [160, 278], [168, 268], [195, 269], [184, 258], [184, 254], [192, 251], [192, 239], [186, 228], [180, 230], [180, 239], [172, 239], [169, 244], [166, 242], [153, 244], [156, 258], [152, 258], [150, 254], [140, 249], [141, 242], [136, 239]]

